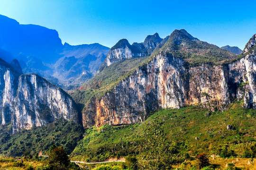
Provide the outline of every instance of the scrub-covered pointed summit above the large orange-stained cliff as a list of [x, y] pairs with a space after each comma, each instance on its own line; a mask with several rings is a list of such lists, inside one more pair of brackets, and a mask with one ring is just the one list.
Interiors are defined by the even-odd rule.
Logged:
[[[177, 38], [182, 37], [182, 38]], [[234, 59], [238, 55], [217, 47], [207, 42], [191, 40], [180, 31], [174, 31], [165, 42], [160, 51], [172, 53], [175, 57], [184, 59], [190, 66], [202, 64], [219, 65], [227, 60]]]

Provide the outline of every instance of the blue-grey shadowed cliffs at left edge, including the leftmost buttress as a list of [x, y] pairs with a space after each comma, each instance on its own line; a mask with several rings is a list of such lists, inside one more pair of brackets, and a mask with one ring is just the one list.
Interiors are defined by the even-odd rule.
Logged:
[[0, 70], [0, 124], [16, 132], [61, 118], [79, 122], [75, 102], [61, 88], [37, 74], [20, 75], [2, 59]]

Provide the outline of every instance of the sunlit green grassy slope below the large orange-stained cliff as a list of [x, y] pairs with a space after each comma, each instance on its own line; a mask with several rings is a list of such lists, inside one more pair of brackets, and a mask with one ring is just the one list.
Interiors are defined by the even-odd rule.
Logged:
[[[145, 130], [163, 127], [168, 139], [180, 153], [206, 152], [219, 154], [227, 145], [235, 153], [242, 154], [244, 147], [255, 143], [256, 110], [244, 109], [235, 102], [223, 112], [210, 112], [198, 107], [178, 110], [159, 110], [145, 122], [127, 126], [91, 127], [72, 153], [73, 160], [103, 161], [111, 157], [137, 154], [140, 139]], [[227, 125], [236, 130], [227, 130]], [[195, 139], [197, 137], [197, 139]]]

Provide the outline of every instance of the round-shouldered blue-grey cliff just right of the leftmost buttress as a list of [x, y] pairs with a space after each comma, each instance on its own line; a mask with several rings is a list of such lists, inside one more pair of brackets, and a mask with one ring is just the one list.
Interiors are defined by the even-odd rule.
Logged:
[[61, 118], [78, 122], [72, 98], [36, 74], [19, 77], [15, 102], [13, 131], [46, 125]]

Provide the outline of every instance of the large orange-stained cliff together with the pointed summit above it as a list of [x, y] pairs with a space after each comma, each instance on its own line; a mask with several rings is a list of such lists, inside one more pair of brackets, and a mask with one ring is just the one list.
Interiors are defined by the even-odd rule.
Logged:
[[175, 30], [148, 63], [91, 98], [83, 110], [83, 126], [136, 123], [157, 108], [201, 105], [225, 110], [236, 100], [256, 108], [255, 44], [252, 38], [238, 57]]

